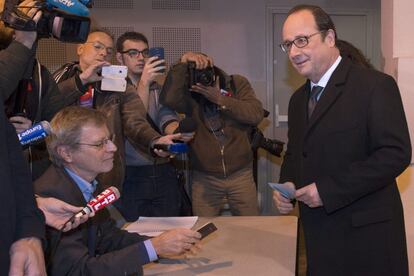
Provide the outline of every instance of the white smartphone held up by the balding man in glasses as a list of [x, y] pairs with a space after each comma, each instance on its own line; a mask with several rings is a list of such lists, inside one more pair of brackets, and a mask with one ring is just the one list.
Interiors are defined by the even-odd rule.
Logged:
[[102, 67], [101, 90], [125, 92], [128, 68], [123, 65], [110, 65]]

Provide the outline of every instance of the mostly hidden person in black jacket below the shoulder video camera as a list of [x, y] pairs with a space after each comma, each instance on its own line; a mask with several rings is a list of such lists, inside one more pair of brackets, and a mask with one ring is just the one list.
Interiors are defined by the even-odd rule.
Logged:
[[[1, 1], [2, 2], [2, 1]], [[23, 2], [25, 5], [27, 1]], [[0, 10], [3, 4], [0, 3]], [[0, 21], [0, 50], [7, 48], [15, 31]], [[36, 42], [35, 42], [36, 44]], [[36, 45], [31, 49], [26, 72], [14, 92], [6, 99], [6, 114], [17, 133], [30, 128], [32, 124], [46, 120], [63, 108], [66, 103], [50, 72], [35, 58]], [[49, 166], [44, 143], [30, 146], [25, 151], [32, 171], [32, 179], [37, 179]]]

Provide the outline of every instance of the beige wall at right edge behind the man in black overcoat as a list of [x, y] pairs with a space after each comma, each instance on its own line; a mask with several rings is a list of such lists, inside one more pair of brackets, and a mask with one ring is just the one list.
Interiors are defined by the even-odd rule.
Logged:
[[[384, 71], [393, 75], [400, 87], [401, 96], [414, 141], [414, 1], [381, 1], [382, 50]], [[398, 178], [404, 204], [407, 230], [410, 274], [414, 274], [414, 165]]]

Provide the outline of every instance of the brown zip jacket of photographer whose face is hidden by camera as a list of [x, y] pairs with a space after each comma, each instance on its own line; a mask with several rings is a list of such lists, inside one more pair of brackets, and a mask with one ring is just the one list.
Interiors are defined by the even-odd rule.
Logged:
[[218, 111], [225, 137], [223, 141], [219, 141], [216, 133], [211, 131], [203, 113], [205, 104], [211, 103], [200, 102], [188, 90], [187, 64], [180, 63], [171, 68], [160, 101], [177, 112], [191, 116], [197, 123], [195, 137], [190, 142], [193, 168], [217, 177], [227, 177], [251, 165], [253, 153], [248, 134], [252, 126], [263, 119], [263, 108], [246, 78], [229, 76], [218, 68], [216, 70], [220, 72], [221, 88], [232, 95], [223, 98], [223, 105]]

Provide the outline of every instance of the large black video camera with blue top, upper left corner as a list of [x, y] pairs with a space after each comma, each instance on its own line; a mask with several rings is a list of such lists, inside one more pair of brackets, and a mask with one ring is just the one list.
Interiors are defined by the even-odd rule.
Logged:
[[34, 7], [42, 10], [36, 24], [18, 10], [20, 0], [6, 0], [1, 19], [15, 30], [37, 31], [39, 38], [54, 37], [62, 42], [83, 43], [90, 29], [92, 0], [43, 0]]

